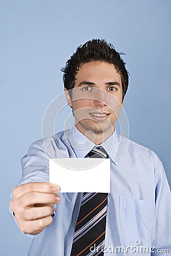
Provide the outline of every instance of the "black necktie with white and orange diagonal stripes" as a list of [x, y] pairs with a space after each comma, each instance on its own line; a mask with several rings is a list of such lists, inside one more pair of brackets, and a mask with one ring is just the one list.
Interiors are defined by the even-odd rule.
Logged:
[[[107, 153], [102, 147], [94, 147], [85, 157], [107, 158]], [[83, 194], [70, 256], [103, 255], [106, 213], [107, 193]]]

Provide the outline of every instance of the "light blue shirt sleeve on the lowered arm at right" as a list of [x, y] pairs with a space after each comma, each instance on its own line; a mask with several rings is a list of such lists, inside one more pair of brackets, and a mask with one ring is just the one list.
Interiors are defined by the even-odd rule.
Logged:
[[[154, 251], [157, 255], [171, 254], [171, 194], [166, 179], [164, 167], [160, 159], [154, 156], [155, 183], [156, 183], [156, 208], [155, 208], [155, 229], [153, 232]], [[151, 254], [153, 255], [153, 253]]]

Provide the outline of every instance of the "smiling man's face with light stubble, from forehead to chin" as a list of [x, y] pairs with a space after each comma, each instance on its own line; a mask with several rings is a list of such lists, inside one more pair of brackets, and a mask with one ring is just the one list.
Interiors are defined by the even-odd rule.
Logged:
[[[69, 102], [69, 95], [67, 97]], [[91, 61], [82, 64], [77, 75], [72, 101], [76, 127], [82, 134], [114, 131], [122, 102], [122, 81], [113, 64]]]

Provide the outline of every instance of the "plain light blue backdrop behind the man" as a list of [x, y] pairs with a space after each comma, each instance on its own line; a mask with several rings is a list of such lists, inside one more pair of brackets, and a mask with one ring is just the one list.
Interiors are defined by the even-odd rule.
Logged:
[[41, 138], [45, 109], [63, 92], [60, 68], [89, 39], [126, 53], [130, 139], [160, 156], [171, 184], [170, 21], [170, 0], [0, 1], [2, 256], [27, 255], [31, 238], [12, 220], [9, 194], [20, 158]]

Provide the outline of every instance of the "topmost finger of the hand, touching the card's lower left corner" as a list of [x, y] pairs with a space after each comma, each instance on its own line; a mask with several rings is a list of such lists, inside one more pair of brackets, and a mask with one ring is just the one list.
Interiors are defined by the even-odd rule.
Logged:
[[30, 191], [37, 191], [42, 193], [57, 193], [60, 191], [60, 187], [59, 185], [48, 182], [32, 182], [15, 187], [12, 193], [15, 198], [18, 198]]

